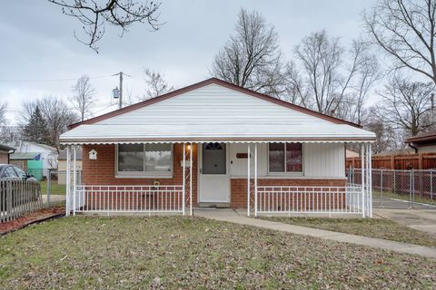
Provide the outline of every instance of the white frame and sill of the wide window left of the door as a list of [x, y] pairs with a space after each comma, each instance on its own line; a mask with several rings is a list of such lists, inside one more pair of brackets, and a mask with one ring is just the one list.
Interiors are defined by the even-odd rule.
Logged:
[[[167, 143], [162, 143], [167, 144]], [[143, 145], [144, 152], [144, 162], [145, 162], [145, 145]], [[174, 148], [173, 143], [170, 144], [171, 147], [171, 166], [170, 171], [119, 171], [118, 170], [118, 150], [119, 144], [115, 145], [115, 179], [173, 179], [173, 159], [174, 159]]]

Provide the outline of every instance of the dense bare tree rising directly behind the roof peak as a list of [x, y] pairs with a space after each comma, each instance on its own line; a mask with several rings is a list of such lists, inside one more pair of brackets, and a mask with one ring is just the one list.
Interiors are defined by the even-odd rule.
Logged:
[[235, 34], [215, 55], [211, 73], [256, 92], [282, 93], [282, 53], [274, 26], [262, 14], [241, 9]]

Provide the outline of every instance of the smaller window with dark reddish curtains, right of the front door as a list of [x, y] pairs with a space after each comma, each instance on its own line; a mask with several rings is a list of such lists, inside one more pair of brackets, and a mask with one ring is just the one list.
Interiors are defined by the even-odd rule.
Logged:
[[301, 143], [271, 143], [268, 148], [269, 172], [302, 172]]

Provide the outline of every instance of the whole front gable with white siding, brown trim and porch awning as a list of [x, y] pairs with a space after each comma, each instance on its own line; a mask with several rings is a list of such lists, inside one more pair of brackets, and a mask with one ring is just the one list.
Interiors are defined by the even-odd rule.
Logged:
[[353, 142], [375, 134], [315, 111], [210, 79], [74, 124], [63, 144]]

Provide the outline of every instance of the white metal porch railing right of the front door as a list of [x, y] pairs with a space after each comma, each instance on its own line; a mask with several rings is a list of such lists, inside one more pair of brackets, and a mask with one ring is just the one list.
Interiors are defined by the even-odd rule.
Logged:
[[258, 214], [362, 214], [367, 194], [362, 186], [346, 187], [257, 187]]

